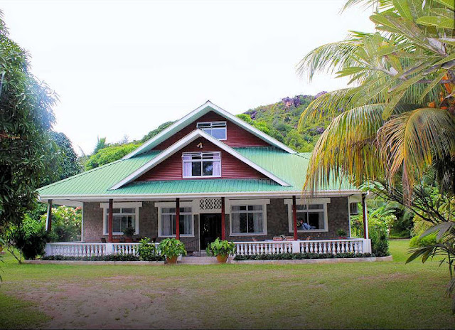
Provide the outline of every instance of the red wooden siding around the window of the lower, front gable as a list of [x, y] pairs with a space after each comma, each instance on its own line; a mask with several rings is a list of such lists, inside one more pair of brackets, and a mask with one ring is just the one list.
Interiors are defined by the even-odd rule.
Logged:
[[[197, 145], [202, 142], [203, 148]], [[200, 137], [195, 141], [176, 151], [175, 154], [156, 165], [153, 169], [140, 176], [135, 181], [162, 181], [162, 180], [188, 180], [183, 179], [182, 153], [193, 151], [221, 151], [221, 179], [264, 179], [264, 174], [256, 171], [243, 161], [235, 158], [223, 149], [215, 146], [207, 139]], [[199, 178], [191, 178], [199, 179]], [[217, 179], [217, 178], [200, 178], [200, 179]]]

